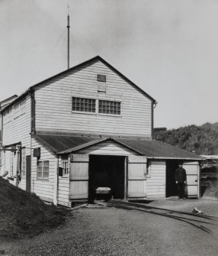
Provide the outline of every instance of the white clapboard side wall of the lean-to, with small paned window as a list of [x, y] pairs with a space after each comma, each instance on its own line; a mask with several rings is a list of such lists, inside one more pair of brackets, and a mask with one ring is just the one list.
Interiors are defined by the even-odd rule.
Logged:
[[37, 180], [37, 157], [31, 159], [31, 191], [37, 196], [45, 199], [54, 199], [54, 175], [56, 175], [56, 157], [38, 143], [34, 138], [32, 139], [32, 148], [40, 147], [40, 161], [49, 160], [49, 180]]

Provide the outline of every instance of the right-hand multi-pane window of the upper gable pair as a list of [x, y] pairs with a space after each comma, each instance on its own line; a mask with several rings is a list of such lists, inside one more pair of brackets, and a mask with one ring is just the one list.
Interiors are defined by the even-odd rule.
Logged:
[[109, 115], [120, 115], [120, 102], [99, 100], [98, 112]]

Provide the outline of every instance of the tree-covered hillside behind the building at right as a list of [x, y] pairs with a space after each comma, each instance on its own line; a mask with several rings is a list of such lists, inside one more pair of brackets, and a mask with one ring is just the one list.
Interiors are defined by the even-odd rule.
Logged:
[[155, 128], [154, 137], [195, 154], [218, 154], [218, 122], [172, 130]]

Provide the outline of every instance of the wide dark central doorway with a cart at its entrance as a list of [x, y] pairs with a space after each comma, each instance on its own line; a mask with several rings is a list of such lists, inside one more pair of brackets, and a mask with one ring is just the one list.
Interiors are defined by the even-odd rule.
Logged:
[[101, 186], [111, 188], [114, 199], [124, 198], [125, 157], [120, 156], [89, 156], [88, 199], [95, 197], [95, 190]]

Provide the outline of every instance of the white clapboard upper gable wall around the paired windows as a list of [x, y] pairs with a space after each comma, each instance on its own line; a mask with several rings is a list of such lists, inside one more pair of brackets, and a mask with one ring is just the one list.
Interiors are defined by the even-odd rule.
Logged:
[[[99, 93], [97, 74], [107, 76], [106, 93]], [[46, 85], [46, 86], [44, 86]], [[101, 61], [39, 86], [36, 128], [39, 131], [75, 131], [91, 134], [123, 134], [151, 138], [152, 103]], [[72, 96], [121, 102], [121, 116], [72, 113]]]

